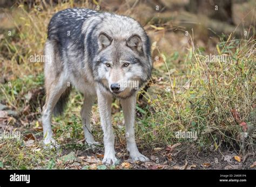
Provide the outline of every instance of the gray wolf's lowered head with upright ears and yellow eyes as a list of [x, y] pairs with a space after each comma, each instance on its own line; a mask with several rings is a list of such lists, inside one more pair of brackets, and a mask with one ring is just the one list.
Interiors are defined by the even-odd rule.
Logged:
[[150, 77], [148, 54], [139, 35], [118, 39], [101, 32], [98, 45], [97, 81], [113, 95], [129, 97]]

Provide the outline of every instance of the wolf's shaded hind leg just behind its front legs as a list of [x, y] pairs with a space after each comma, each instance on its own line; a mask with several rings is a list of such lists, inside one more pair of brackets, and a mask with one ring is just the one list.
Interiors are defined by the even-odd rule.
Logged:
[[86, 96], [84, 95], [84, 103], [82, 110], [80, 112], [81, 118], [82, 118], [82, 124], [83, 124], [83, 130], [84, 130], [84, 138], [85, 142], [89, 145], [97, 145], [99, 142], [96, 142], [92, 136], [91, 133], [91, 109], [92, 105], [95, 102], [95, 97], [93, 96]]

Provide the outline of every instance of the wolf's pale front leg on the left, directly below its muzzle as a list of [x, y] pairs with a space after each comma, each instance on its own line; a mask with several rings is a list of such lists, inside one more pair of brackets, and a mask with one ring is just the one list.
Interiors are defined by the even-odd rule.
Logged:
[[117, 162], [116, 152], [114, 151], [114, 134], [111, 125], [111, 103], [112, 97], [107, 93], [97, 90], [98, 108], [100, 114], [100, 123], [104, 133], [105, 153], [103, 163], [115, 164]]

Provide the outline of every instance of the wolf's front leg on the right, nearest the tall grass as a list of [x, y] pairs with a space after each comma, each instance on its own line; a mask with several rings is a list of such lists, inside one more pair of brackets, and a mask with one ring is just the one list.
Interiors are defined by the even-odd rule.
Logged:
[[135, 121], [135, 109], [136, 109], [136, 94], [126, 99], [121, 100], [122, 109], [124, 111], [125, 120], [125, 135], [127, 150], [130, 153], [131, 159], [133, 161], [149, 161], [149, 159], [143, 154], [139, 153], [135, 142], [134, 135], [134, 121]]

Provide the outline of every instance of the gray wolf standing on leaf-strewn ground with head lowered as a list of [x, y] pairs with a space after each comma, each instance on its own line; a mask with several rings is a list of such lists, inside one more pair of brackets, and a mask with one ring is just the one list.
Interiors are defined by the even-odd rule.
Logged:
[[[80, 112], [85, 141], [97, 144], [91, 134], [90, 112], [98, 100], [100, 123], [104, 132], [103, 163], [114, 164], [114, 134], [111, 125], [112, 98], [120, 99], [125, 118], [127, 151], [133, 161], [147, 161], [134, 138], [137, 88], [150, 78], [152, 61], [150, 40], [134, 19], [90, 9], [57, 12], [48, 26], [45, 44], [45, 90], [42, 123], [44, 143], [54, 146], [51, 116], [61, 114], [72, 85], [83, 93]], [[123, 86], [125, 85], [125, 86]], [[128, 85], [128, 86], [127, 86]]]

